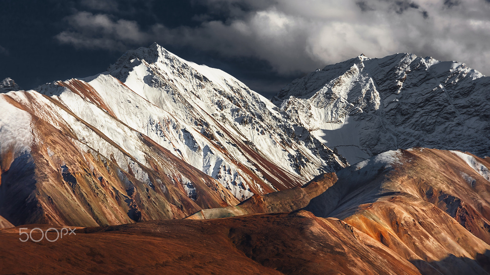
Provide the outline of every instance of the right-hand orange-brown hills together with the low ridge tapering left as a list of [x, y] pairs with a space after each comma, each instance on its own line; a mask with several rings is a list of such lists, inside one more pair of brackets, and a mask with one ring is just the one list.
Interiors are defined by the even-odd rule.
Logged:
[[342, 220], [421, 274], [490, 271], [490, 161], [460, 151], [388, 151], [302, 187], [187, 219], [298, 210]]

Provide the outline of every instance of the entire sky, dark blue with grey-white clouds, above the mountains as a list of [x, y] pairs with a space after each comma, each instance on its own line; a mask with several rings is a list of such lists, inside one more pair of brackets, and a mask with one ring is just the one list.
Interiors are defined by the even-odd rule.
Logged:
[[412, 52], [490, 74], [490, 0], [4, 2], [0, 79], [27, 88], [103, 71], [153, 42], [258, 92], [360, 53]]

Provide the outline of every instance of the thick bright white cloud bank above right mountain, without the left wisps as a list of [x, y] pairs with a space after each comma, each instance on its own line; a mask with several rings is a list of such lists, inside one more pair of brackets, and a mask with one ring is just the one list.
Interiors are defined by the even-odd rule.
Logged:
[[490, 57], [489, 15], [484, 0], [281, 0], [187, 33], [194, 41], [206, 39], [203, 30], [214, 34], [206, 39], [214, 42], [208, 47], [224, 47], [225, 54], [233, 54], [227, 45], [237, 41], [235, 54], [266, 59], [283, 73], [321, 68], [361, 53], [383, 57], [397, 52], [458, 60], [490, 73], [485, 62]]

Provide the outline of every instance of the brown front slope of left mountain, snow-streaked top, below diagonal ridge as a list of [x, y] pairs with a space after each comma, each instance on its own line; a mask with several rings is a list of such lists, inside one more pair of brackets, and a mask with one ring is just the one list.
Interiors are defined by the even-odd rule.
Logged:
[[47, 96], [20, 91], [0, 101], [11, 115], [6, 121], [29, 123], [27, 133], [2, 128], [4, 136], [25, 139], [6, 139], [1, 148], [0, 215], [14, 225], [115, 225], [238, 203], [219, 182], [130, 128], [124, 140], [137, 144], [129, 149], [140, 159]]

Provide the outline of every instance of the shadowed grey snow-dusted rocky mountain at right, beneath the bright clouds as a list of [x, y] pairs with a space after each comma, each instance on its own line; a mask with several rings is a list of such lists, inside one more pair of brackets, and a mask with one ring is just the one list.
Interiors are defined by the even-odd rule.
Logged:
[[463, 63], [364, 55], [311, 72], [272, 100], [353, 164], [415, 146], [490, 155], [490, 77]]

